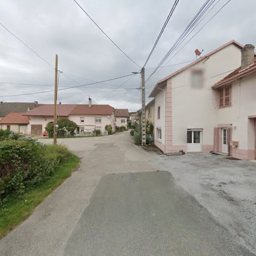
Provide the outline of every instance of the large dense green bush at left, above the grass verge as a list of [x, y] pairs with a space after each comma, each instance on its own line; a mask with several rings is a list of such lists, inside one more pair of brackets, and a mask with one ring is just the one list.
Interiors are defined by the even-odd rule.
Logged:
[[47, 180], [69, 151], [62, 145], [42, 145], [20, 139], [0, 143], [0, 204], [9, 197], [22, 196], [31, 187]]

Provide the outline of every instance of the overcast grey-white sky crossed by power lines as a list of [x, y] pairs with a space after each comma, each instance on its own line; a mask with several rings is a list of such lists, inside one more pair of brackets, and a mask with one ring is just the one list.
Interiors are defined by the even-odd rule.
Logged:
[[[174, 0], [77, 1], [105, 33], [140, 66], [143, 66], [174, 3]], [[220, 0], [198, 29], [226, 1]], [[153, 71], [147, 68], [158, 65], [204, 2], [205, 0], [180, 0], [145, 67], [146, 78]], [[255, 0], [231, 0], [166, 65], [193, 60], [195, 49], [204, 49], [203, 53], [206, 54], [232, 39], [241, 44], [255, 45], [255, 9]], [[0, 22], [51, 65], [54, 66], [55, 54], [58, 54], [58, 69], [72, 79], [72, 81], [68, 79], [64, 73], [60, 74], [59, 88], [111, 79], [139, 71], [139, 68], [100, 32], [73, 0], [1, 1]], [[184, 65], [186, 64], [163, 68], [146, 83], [146, 95], [151, 92], [158, 80]], [[36, 100], [39, 103], [53, 103], [52, 92], [4, 97], [4, 95], [54, 89], [54, 69], [1, 26], [0, 82], [0, 100], [2, 101], [33, 102]], [[3, 82], [33, 83], [38, 86]], [[48, 86], [42, 86], [43, 84]], [[112, 92], [120, 84], [122, 86]], [[62, 90], [58, 92], [58, 100], [62, 103], [88, 103], [90, 95], [93, 103], [110, 104], [114, 108], [129, 108], [130, 111], [135, 111], [140, 106], [140, 92], [132, 89], [139, 86], [140, 75], [138, 74], [81, 89]], [[129, 89], [123, 90], [124, 88]], [[149, 100], [146, 98], [146, 102]]]

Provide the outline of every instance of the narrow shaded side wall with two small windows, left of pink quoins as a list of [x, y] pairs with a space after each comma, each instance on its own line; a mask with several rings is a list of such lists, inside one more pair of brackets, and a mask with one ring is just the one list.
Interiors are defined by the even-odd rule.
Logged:
[[[166, 86], [164, 89], [166, 91]], [[155, 96], [155, 127], [154, 127], [154, 140], [156, 146], [160, 148], [165, 153], [165, 93], [163, 91], [160, 91], [156, 96]], [[158, 119], [157, 111], [158, 107], [160, 106], [160, 119]], [[157, 128], [160, 128], [162, 130], [162, 139], [159, 140], [157, 136]]]

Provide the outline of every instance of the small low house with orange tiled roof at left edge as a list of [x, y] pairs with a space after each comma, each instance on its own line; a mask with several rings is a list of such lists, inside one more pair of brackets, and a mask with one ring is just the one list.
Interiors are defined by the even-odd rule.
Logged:
[[29, 118], [23, 113], [9, 113], [0, 120], [0, 129], [27, 134]]

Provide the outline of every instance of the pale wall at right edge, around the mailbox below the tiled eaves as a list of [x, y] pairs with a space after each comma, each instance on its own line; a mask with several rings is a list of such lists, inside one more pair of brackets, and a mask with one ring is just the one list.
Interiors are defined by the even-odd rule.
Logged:
[[[238, 141], [238, 147], [232, 146], [233, 157], [254, 159], [255, 131], [254, 119], [248, 116], [256, 115], [256, 74], [245, 76], [241, 81], [235, 81], [231, 87], [231, 106], [220, 108], [217, 112], [218, 124], [232, 124], [232, 141]], [[218, 108], [216, 97], [216, 108]]]

